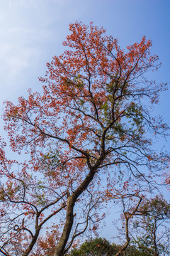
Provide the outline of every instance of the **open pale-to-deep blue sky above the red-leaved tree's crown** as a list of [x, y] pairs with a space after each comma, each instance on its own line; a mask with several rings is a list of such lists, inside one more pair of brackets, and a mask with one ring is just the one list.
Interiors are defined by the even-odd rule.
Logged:
[[[159, 55], [162, 68], [149, 78], [170, 81], [169, 12], [169, 0], [0, 0], [0, 110], [4, 100], [17, 102], [29, 87], [40, 90], [38, 76], [53, 55], [62, 53], [69, 23], [76, 20], [103, 26], [123, 48], [142, 35], [152, 39], [152, 53]], [[170, 90], [156, 112], [170, 125], [169, 99]]]

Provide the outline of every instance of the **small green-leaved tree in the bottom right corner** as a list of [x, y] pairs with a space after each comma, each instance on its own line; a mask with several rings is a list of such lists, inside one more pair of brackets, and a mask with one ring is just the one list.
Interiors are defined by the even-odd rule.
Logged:
[[170, 204], [159, 196], [145, 200], [133, 222], [132, 234], [134, 244], [142, 252], [170, 255]]

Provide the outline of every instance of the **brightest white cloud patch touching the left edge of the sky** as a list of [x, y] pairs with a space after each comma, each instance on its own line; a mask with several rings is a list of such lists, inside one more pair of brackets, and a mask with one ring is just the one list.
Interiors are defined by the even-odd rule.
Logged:
[[1, 80], [8, 83], [20, 76], [24, 69], [35, 65], [40, 57], [40, 48], [37, 44], [33, 46], [36, 34], [33, 31], [24, 31], [23, 28], [14, 27], [1, 31], [1, 38], [0, 76]]

